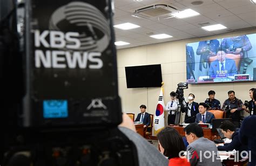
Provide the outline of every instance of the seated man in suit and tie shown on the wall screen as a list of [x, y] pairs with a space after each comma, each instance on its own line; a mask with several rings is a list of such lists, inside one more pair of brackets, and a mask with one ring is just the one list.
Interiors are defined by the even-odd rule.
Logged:
[[228, 77], [237, 74], [237, 66], [235, 61], [226, 58], [226, 50], [219, 48], [217, 52], [217, 60], [212, 61], [208, 75], [211, 78]]

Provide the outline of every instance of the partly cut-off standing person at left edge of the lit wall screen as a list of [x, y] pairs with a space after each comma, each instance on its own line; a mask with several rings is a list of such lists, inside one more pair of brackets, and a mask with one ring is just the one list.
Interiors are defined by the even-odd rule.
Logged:
[[193, 47], [188, 46], [186, 44], [186, 61], [187, 61], [187, 80], [189, 79], [196, 79], [194, 78], [194, 66], [195, 66], [195, 61], [194, 61], [194, 51]]

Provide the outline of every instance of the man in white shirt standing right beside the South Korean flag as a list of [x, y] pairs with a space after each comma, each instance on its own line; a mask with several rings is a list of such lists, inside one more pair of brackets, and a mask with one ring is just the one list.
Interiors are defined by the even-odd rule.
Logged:
[[178, 109], [178, 101], [176, 99], [176, 93], [171, 92], [171, 101], [167, 103], [165, 106], [165, 110], [168, 112], [168, 125], [174, 125], [175, 117], [176, 117], [176, 111]]

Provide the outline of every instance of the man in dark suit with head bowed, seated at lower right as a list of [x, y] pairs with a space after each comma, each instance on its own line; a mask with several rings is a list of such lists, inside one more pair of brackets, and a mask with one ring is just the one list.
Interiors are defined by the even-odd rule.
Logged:
[[[230, 143], [225, 143], [224, 146], [218, 146], [220, 151], [233, 151], [234, 149], [239, 151], [239, 157], [241, 157], [242, 151], [247, 151], [247, 146], [242, 145], [239, 141], [239, 129], [235, 128], [231, 121], [224, 121], [220, 127], [221, 132], [227, 139], [232, 140]], [[240, 158], [241, 160], [241, 158]]]

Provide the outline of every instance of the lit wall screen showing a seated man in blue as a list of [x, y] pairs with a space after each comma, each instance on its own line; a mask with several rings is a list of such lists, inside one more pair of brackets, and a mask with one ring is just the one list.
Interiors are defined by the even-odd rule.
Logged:
[[188, 84], [256, 80], [256, 33], [186, 44]]

